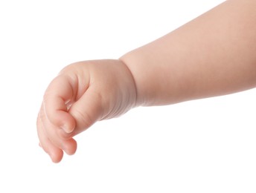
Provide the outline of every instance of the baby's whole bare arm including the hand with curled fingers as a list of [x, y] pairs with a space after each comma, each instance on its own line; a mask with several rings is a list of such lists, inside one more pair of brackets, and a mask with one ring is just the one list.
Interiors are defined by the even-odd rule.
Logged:
[[225, 1], [119, 60], [68, 65], [48, 86], [37, 119], [54, 162], [74, 135], [138, 105], [168, 105], [256, 85], [256, 1]]

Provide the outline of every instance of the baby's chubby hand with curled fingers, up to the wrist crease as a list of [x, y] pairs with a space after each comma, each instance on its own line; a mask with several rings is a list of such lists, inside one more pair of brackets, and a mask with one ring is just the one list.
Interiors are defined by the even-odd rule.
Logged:
[[45, 91], [37, 118], [39, 145], [54, 163], [74, 154], [74, 135], [99, 120], [118, 117], [136, 105], [135, 82], [120, 60], [68, 65]]

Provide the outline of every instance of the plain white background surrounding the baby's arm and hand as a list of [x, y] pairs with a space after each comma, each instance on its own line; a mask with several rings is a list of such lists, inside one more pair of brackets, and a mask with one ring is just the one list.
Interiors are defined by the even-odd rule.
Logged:
[[42, 94], [71, 62], [117, 59], [223, 1], [0, 1], [0, 192], [256, 192], [256, 91], [135, 108], [38, 146]]

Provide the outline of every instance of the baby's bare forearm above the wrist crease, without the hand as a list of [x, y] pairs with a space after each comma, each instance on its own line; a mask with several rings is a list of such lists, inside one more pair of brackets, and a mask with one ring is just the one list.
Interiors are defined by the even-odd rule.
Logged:
[[138, 105], [166, 105], [256, 85], [256, 1], [225, 1], [121, 57]]

